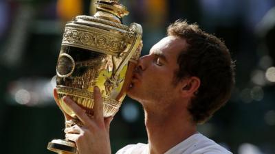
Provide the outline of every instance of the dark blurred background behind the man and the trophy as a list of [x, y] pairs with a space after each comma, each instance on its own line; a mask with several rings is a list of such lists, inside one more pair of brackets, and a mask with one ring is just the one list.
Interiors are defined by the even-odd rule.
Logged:
[[[140, 23], [147, 54], [177, 18], [223, 38], [236, 60], [230, 101], [199, 131], [239, 154], [275, 153], [274, 0], [121, 0]], [[89, 0], [0, 1], [0, 153], [52, 153], [64, 119], [52, 98], [65, 22], [91, 14]], [[113, 153], [146, 142], [142, 107], [126, 98], [111, 123]]]

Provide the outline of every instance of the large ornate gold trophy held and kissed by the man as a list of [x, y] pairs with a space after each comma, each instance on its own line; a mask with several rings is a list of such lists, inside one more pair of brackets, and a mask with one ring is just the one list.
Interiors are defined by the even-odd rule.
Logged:
[[[129, 14], [118, 0], [98, 0], [94, 16], [76, 16], [65, 25], [56, 66], [56, 88], [63, 112], [72, 116], [66, 123], [81, 125], [63, 102], [71, 97], [90, 116], [93, 115], [94, 86], [100, 88], [104, 117], [118, 112], [137, 59], [140, 57], [142, 27], [123, 25]], [[56, 153], [78, 153], [68, 140], [52, 140], [47, 149]]]

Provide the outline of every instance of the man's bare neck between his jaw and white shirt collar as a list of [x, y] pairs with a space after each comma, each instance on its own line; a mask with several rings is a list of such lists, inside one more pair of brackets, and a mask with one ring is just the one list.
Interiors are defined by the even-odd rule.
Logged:
[[197, 131], [187, 110], [183, 112], [182, 108], [165, 112], [148, 111], [146, 107], [144, 110], [150, 154], [165, 153]]

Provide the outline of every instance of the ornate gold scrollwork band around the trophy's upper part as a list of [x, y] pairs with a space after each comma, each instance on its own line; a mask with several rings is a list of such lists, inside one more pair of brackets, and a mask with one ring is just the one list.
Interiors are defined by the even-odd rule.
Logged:
[[121, 34], [111, 34], [110, 31], [74, 23], [65, 27], [62, 45], [80, 47], [107, 55], [118, 55], [125, 47]]

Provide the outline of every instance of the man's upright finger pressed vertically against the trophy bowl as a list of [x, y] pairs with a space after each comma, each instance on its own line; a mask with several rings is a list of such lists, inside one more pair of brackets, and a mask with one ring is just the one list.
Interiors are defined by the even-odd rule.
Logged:
[[94, 87], [94, 118], [103, 121], [103, 100], [97, 86]]

